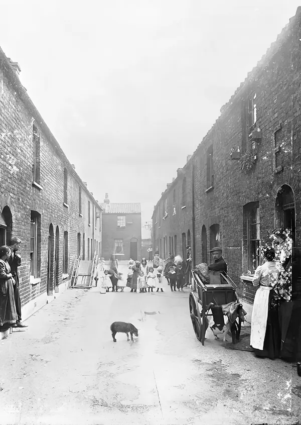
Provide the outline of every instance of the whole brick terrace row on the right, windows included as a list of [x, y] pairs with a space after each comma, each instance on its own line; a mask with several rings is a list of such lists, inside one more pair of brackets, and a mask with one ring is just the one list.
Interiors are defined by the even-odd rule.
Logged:
[[249, 303], [247, 274], [273, 229], [290, 228], [301, 246], [300, 38], [298, 8], [154, 208], [161, 256], [183, 255], [191, 242], [194, 264], [209, 263], [210, 248], [220, 246]]

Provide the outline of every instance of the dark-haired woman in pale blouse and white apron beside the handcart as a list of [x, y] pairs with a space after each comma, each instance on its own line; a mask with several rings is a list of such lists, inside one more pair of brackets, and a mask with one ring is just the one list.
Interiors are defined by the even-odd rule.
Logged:
[[252, 280], [253, 286], [259, 287], [253, 304], [250, 345], [256, 356], [273, 360], [280, 355], [278, 309], [273, 304], [273, 286], [279, 278], [279, 270], [273, 248], [267, 247], [264, 257], [265, 263], [257, 267]]

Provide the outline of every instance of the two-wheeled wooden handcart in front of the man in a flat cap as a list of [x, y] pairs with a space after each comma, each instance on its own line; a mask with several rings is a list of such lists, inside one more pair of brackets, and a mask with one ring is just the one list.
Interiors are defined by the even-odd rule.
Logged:
[[[232, 301], [239, 303], [236, 293], [237, 285], [227, 274], [210, 271], [209, 277], [210, 283], [208, 284], [206, 279], [203, 279], [196, 271], [191, 271], [190, 317], [196, 337], [201, 341], [202, 345], [205, 342], [205, 333], [209, 323], [207, 316], [213, 316], [211, 308], [228, 304]], [[211, 311], [211, 314], [209, 314], [209, 311]], [[234, 324], [236, 326], [236, 339], [240, 335], [241, 322], [241, 318], [238, 317]], [[232, 328], [231, 333], [234, 343]]]

